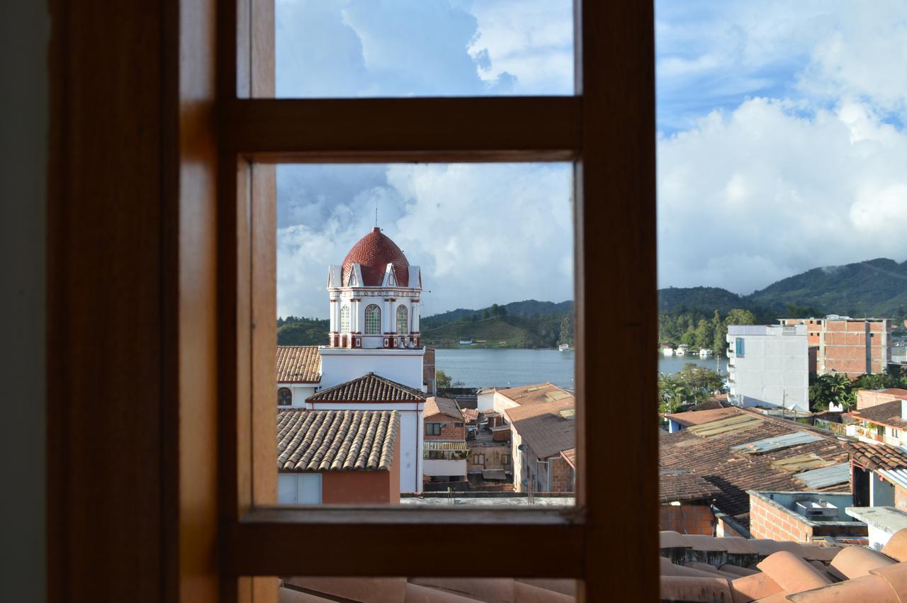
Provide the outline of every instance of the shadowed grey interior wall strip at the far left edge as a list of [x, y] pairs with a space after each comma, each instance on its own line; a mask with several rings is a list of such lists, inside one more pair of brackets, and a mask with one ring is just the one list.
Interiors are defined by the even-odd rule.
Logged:
[[[45, 245], [48, 3], [0, 2], [0, 601], [46, 599]], [[12, 490], [8, 490], [12, 488]]]

